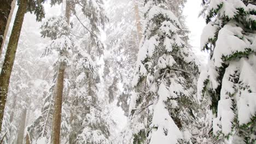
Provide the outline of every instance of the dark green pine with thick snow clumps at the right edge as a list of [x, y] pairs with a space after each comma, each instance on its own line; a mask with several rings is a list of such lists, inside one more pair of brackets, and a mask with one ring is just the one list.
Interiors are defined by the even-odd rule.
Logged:
[[201, 49], [210, 51], [210, 59], [200, 75], [199, 99], [209, 101], [217, 142], [255, 143], [255, 2], [203, 4]]

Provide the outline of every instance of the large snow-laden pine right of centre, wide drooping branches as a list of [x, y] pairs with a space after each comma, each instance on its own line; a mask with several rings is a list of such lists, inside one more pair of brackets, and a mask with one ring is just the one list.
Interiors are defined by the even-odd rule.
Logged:
[[166, 1], [145, 3], [146, 25], [130, 104], [133, 143], [187, 143], [196, 128], [194, 55]]

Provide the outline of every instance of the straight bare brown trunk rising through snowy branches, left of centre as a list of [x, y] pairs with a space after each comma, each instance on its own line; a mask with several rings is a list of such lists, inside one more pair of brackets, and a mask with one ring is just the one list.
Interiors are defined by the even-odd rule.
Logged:
[[[67, 1], [66, 1], [67, 2]], [[66, 3], [66, 17], [67, 23], [70, 20], [70, 4]], [[63, 94], [63, 83], [65, 75], [65, 63], [61, 62], [57, 74], [56, 83], [56, 96], [55, 96], [55, 108], [54, 108], [54, 120], [53, 120], [53, 144], [60, 144], [60, 133], [61, 133], [61, 109], [62, 109], [62, 94]]]

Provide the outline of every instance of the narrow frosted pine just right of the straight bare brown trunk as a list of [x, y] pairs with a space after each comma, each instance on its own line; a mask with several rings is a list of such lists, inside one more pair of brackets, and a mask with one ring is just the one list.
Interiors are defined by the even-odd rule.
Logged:
[[82, 10], [79, 10], [79, 6], [75, 9], [77, 20], [73, 21], [73, 30], [84, 37], [77, 38], [72, 58], [69, 143], [110, 143], [110, 125], [114, 124], [107, 109], [109, 107], [99, 98], [101, 79], [96, 64], [104, 50], [99, 37], [107, 17], [104, 15], [102, 1], [84, 1], [79, 5]]

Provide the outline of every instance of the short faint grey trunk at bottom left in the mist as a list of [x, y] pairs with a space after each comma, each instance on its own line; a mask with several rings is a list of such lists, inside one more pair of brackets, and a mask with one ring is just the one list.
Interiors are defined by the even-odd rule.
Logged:
[[21, 113], [21, 121], [19, 123], [20, 127], [19, 127], [19, 131], [18, 131], [17, 142], [16, 142], [17, 144], [23, 143], [26, 117], [27, 117], [27, 109], [25, 108]]

